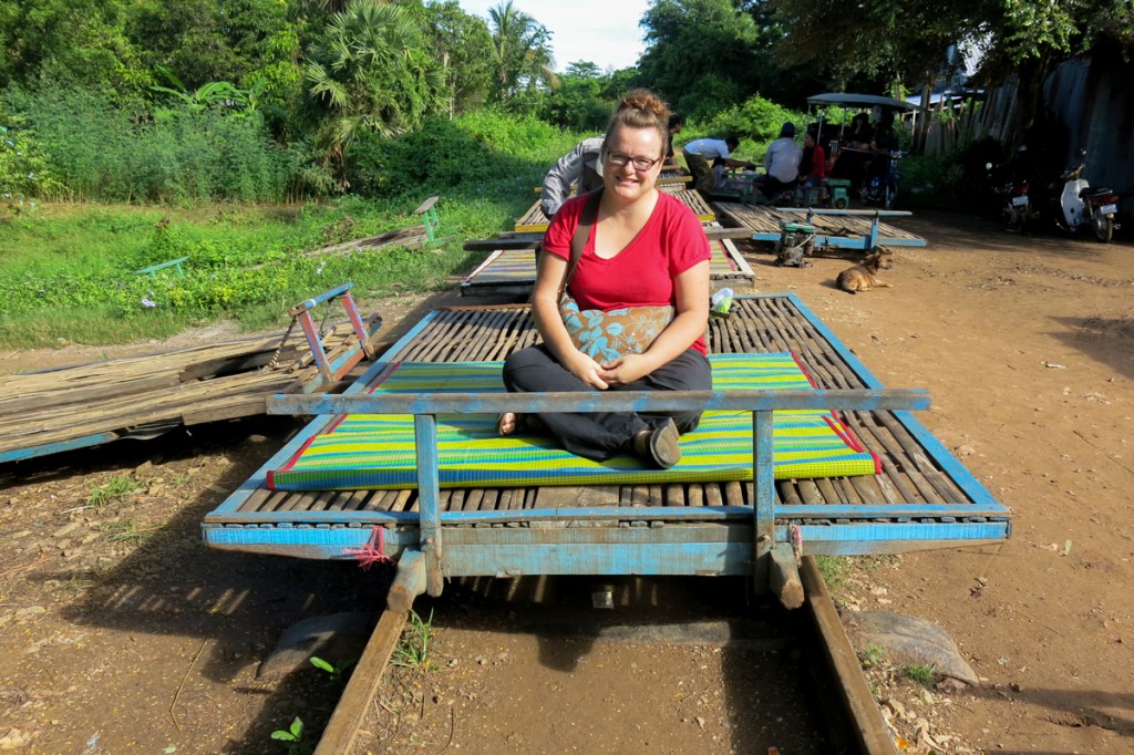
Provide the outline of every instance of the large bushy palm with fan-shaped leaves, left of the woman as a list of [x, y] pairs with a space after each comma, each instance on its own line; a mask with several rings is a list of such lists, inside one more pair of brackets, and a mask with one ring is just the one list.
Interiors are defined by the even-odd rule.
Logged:
[[359, 129], [393, 136], [443, 105], [443, 74], [421, 29], [404, 8], [376, 0], [350, 0], [331, 17], [305, 78], [324, 116], [324, 158], [340, 170]]

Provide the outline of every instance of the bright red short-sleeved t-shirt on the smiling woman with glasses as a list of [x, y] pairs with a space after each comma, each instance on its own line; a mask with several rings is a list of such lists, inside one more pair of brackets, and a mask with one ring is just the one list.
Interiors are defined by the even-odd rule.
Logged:
[[[543, 249], [570, 260], [570, 239], [587, 197], [564, 204], [543, 235]], [[581, 309], [676, 306], [674, 278], [709, 260], [701, 221], [683, 202], [659, 192], [658, 204], [638, 235], [621, 252], [603, 260], [594, 254], [594, 227], [567, 287]], [[692, 348], [706, 354], [704, 337]]]

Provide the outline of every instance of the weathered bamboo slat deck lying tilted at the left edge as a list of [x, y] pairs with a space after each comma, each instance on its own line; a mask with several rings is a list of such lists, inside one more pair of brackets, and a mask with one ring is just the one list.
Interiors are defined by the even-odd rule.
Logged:
[[[268, 367], [282, 337], [0, 376], [0, 461], [264, 414], [269, 396], [322, 383], [298, 329]], [[323, 343], [332, 362], [359, 347], [348, 323]]]

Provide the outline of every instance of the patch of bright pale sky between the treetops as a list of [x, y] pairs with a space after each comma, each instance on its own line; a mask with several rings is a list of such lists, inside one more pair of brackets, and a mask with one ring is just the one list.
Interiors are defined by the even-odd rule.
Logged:
[[[466, 14], [484, 20], [489, 20], [489, 8], [502, 1], [459, 0]], [[556, 71], [560, 74], [579, 60], [600, 69], [629, 68], [645, 49], [638, 20], [649, 0], [513, 0], [511, 5], [551, 32]]]

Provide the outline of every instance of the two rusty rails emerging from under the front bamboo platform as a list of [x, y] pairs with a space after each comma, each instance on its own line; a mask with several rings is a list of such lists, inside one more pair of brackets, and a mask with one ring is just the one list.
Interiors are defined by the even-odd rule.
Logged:
[[[765, 752], [778, 752], [777, 747], [767, 743], [793, 741], [792, 737], [796, 735], [790, 732], [810, 728], [822, 731], [818, 741], [811, 741], [809, 745], [811, 749], [806, 747], [799, 749], [797, 743], [795, 748], [790, 748], [790, 752], [892, 755], [896, 752], [892, 735], [862, 675], [858, 658], [847, 639], [813, 558], [805, 557], [803, 559], [801, 576], [806, 589], [803, 608], [797, 611], [784, 611], [779, 606], [769, 606], [771, 613], [779, 614], [779, 619], [771, 622], [764, 622], [761, 619], [761, 626], [765, 623], [775, 626], [771, 634], [761, 633], [759, 639], [750, 637], [723, 643], [723, 646], [731, 644], [746, 648], [730, 656], [730, 662], [734, 663], [743, 663], [745, 659], [760, 655], [779, 659], [780, 665], [776, 665], [773, 662], [770, 667], [771, 675], [769, 675], [769, 667], [759, 661], [748, 668], [761, 668], [763, 676], [756, 684], [772, 692], [777, 698], [773, 703], [777, 711], [792, 711], [790, 715], [784, 715], [779, 712], [776, 714], [776, 727], [779, 727], [779, 731], [763, 731], [761, 736], [753, 737], [751, 741], [746, 743], [734, 740], [733, 752], [760, 753], [760, 755]], [[738, 587], [736, 582], [734, 580], [731, 587]], [[505, 610], [511, 614], [526, 611], [526, 609], [513, 610], [507, 606]], [[680, 609], [677, 611], [680, 612]], [[352, 753], [379, 750], [411, 752], [411, 749], [399, 749], [396, 743], [382, 740], [374, 731], [376, 728], [381, 728], [381, 726], [374, 726], [375, 715], [379, 718], [399, 715], [382, 697], [383, 686], [389, 680], [391, 671], [391, 656], [398, 647], [408, 617], [407, 611], [387, 610], [382, 613], [331, 714], [330, 721], [322, 732], [314, 750], [315, 755], [350, 755]], [[657, 618], [655, 614], [653, 618]], [[649, 623], [649, 621], [644, 623]], [[549, 625], [541, 625], [531, 629], [547, 631]], [[621, 628], [627, 629], [628, 627], [624, 625]], [[649, 627], [638, 628], [649, 629]], [[634, 628], [629, 629], [631, 634], [634, 635]], [[524, 631], [524, 628], [521, 628], [521, 631]], [[646, 636], [646, 642], [659, 642], [658, 633], [654, 633], [650, 638], [648, 631]], [[688, 644], [696, 641], [677, 642]], [[491, 654], [492, 651], [492, 647], [484, 648], [486, 655]], [[612, 651], [612, 653], [617, 654], [618, 650]], [[788, 658], [804, 659], [805, 662], [787, 662]], [[798, 672], [804, 669], [810, 671], [810, 673], [803, 675], [807, 677], [806, 679], [784, 677], [785, 673], [793, 672], [798, 676]], [[767, 678], [776, 673], [780, 676], [775, 679]], [[621, 692], [635, 694], [631, 682]], [[595, 690], [595, 694], [599, 694], [599, 690]], [[424, 710], [425, 693], [422, 692], [421, 695]], [[536, 706], [536, 703], [533, 702], [533, 711]], [[542, 706], [540, 707], [542, 710]], [[451, 709], [450, 714], [456, 720], [456, 714], [452, 713]], [[704, 728], [702, 720], [699, 719], [697, 722]], [[501, 726], [507, 724], [506, 721], [500, 721], [500, 723]], [[649, 726], [649, 722], [638, 723]], [[592, 722], [592, 726], [599, 724]], [[438, 746], [433, 748], [425, 747], [424, 743], [416, 743], [412, 746], [412, 752], [441, 752], [452, 747], [454, 744], [460, 747], [460, 749], [454, 748], [455, 752], [469, 752], [469, 743], [466, 741], [464, 747], [459, 741], [455, 743], [454, 729], [456, 729], [456, 723], [449, 730], [447, 741], [434, 743]], [[743, 736], [742, 729], [738, 727], [736, 736]], [[585, 743], [579, 745], [581, 752], [587, 752], [584, 745]], [[488, 745], [481, 743], [480, 746]], [[548, 744], [543, 744], [543, 748], [539, 752], [553, 752], [545, 749], [548, 746]], [[407, 747], [411, 746], [407, 745]], [[475, 747], [476, 745], [473, 746], [473, 752], [480, 752]]]

